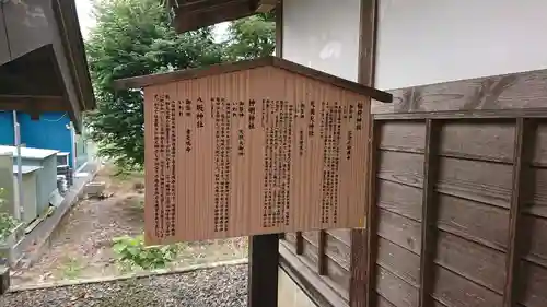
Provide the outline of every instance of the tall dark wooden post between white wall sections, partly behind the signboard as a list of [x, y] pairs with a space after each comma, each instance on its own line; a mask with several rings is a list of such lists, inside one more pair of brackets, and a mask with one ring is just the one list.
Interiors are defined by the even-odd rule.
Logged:
[[[377, 24], [377, 0], [361, 0], [360, 31], [359, 31], [359, 83], [368, 86], [374, 86], [375, 71], [375, 50], [376, 50], [376, 24]], [[368, 191], [366, 225], [360, 229], [352, 229], [350, 233], [351, 256], [350, 256], [350, 286], [349, 305], [350, 307], [373, 306], [373, 293], [375, 293], [373, 274], [376, 263], [376, 231], [374, 227], [375, 219], [375, 140], [374, 122], [372, 118], [369, 123], [370, 135], [373, 137], [368, 144], [368, 182], [364, 187]], [[364, 219], [364, 217], [363, 217]], [[368, 229], [366, 227], [372, 227]], [[371, 248], [371, 245], [372, 248]]]

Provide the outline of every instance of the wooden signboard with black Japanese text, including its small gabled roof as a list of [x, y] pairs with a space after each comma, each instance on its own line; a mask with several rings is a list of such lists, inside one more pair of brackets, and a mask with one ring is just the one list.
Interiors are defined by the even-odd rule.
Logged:
[[149, 244], [365, 219], [371, 97], [274, 57], [118, 81], [144, 87]]

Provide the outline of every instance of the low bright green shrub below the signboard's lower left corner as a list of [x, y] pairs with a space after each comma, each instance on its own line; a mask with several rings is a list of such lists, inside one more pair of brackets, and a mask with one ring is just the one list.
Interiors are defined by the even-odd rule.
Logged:
[[114, 252], [120, 264], [144, 270], [163, 269], [177, 253], [176, 246], [144, 246], [143, 236], [119, 237], [114, 239]]

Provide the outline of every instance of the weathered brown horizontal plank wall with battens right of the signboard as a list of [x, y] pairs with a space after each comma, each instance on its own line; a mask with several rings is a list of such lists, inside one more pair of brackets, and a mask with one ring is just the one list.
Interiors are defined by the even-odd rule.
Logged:
[[369, 306], [547, 306], [547, 119], [375, 127]]

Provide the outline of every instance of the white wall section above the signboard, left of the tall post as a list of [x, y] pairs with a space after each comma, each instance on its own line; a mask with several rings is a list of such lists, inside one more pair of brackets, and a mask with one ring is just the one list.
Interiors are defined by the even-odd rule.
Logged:
[[357, 81], [360, 0], [284, 0], [283, 58]]

